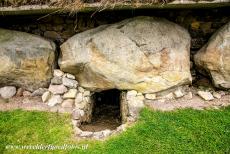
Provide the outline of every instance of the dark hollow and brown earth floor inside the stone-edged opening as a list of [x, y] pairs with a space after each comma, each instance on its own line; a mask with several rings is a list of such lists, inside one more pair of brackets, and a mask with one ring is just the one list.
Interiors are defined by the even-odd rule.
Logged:
[[90, 123], [83, 123], [84, 131], [114, 130], [121, 125], [120, 91], [117, 89], [96, 92], [91, 96], [93, 103]]

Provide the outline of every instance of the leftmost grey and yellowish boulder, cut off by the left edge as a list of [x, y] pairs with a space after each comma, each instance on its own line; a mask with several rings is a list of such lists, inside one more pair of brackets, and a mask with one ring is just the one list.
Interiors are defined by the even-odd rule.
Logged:
[[41, 37], [0, 29], [0, 85], [27, 90], [48, 86], [55, 45]]

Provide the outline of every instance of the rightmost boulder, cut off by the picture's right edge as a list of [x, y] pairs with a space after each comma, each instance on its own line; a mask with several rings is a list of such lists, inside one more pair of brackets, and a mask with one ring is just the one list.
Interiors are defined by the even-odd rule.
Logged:
[[203, 74], [218, 88], [230, 88], [230, 22], [218, 30], [194, 57]]

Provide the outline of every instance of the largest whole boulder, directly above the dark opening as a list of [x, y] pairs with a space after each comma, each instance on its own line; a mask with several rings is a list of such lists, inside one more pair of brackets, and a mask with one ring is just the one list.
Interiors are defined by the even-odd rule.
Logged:
[[152, 93], [191, 82], [189, 49], [182, 27], [136, 17], [73, 36], [61, 46], [59, 66], [92, 91]]

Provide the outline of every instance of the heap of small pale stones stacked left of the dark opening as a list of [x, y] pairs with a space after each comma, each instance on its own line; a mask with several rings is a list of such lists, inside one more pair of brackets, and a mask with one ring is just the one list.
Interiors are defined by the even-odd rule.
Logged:
[[91, 115], [91, 110], [88, 110], [90, 95], [90, 91], [78, 85], [74, 75], [55, 69], [49, 88], [42, 94], [42, 101], [50, 107], [72, 108], [74, 120], [88, 122]]

